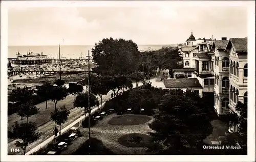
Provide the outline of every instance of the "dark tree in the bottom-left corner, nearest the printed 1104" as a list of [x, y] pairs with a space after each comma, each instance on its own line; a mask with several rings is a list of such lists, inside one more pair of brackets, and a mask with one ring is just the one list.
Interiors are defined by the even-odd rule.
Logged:
[[22, 139], [22, 142], [17, 140], [15, 146], [22, 148], [25, 155], [27, 146], [39, 139], [41, 133], [36, 133], [37, 127], [33, 122], [22, 124], [15, 122], [12, 128], [12, 132], [8, 130], [8, 138]]

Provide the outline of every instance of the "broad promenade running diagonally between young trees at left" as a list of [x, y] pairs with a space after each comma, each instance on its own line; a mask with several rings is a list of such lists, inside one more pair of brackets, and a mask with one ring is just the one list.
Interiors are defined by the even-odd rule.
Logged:
[[[155, 78], [151, 79], [150, 81], [152, 82], [152, 86], [154, 86], [154, 87], [158, 87], [158, 88], [164, 87], [163, 83], [156, 82]], [[141, 86], [142, 83], [139, 83], [138, 85]], [[133, 87], [134, 88], [136, 87], [135, 83], [133, 83]], [[86, 90], [86, 87], [84, 87], [84, 90]], [[107, 100], [109, 100], [111, 98], [111, 93], [112, 93], [112, 91], [110, 91], [108, 94], [102, 96], [102, 103], [106, 102]], [[99, 99], [99, 102], [101, 103], [100, 97], [98, 97], [98, 99]], [[60, 108], [61, 106], [66, 105], [66, 108], [70, 109], [69, 118], [65, 124], [61, 125], [61, 128], [65, 128], [68, 125], [70, 125], [71, 123], [73, 123], [84, 112], [84, 108], [77, 108], [77, 107], [73, 108], [73, 102], [74, 102], [74, 95], [69, 95], [65, 99], [58, 102], [58, 104], [57, 104], [57, 108]], [[50, 120], [50, 114], [54, 110], [54, 104], [49, 100], [47, 105], [49, 107], [48, 109], [46, 109], [46, 102], [37, 104], [36, 107], [40, 108], [40, 112], [29, 118], [29, 121], [37, 123], [37, 126], [39, 126], [37, 128], [37, 131], [41, 132], [42, 135], [40, 136], [40, 138], [38, 140], [36, 140], [34, 143], [30, 144], [27, 147], [26, 152], [35, 148], [36, 146], [38, 146], [43, 141], [45, 141], [46, 139], [48, 139], [49, 137], [51, 137], [53, 135], [52, 130], [56, 126], [56, 124], [52, 120]], [[93, 107], [93, 108], [95, 108], [95, 107]], [[44, 119], [41, 119], [41, 118], [44, 118]], [[25, 122], [25, 119], [20, 120], [20, 117], [17, 116], [16, 114], [12, 114], [12, 115], [8, 116], [8, 128], [12, 128], [12, 124], [15, 121]], [[59, 129], [59, 126], [58, 126], [58, 129]], [[8, 140], [8, 155], [14, 155], [14, 154], [22, 155], [23, 154], [23, 151], [20, 151], [18, 153], [10, 151], [11, 148], [12, 149], [16, 148], [15, 141], [16, 140]]]

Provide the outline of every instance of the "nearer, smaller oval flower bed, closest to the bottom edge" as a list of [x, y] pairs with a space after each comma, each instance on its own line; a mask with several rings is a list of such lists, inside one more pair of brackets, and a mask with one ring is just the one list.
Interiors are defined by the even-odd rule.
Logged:
[[126, 147], [149, 147], [151, 137], [146, 134], [131, 133], [118, 138], [118, 142]]

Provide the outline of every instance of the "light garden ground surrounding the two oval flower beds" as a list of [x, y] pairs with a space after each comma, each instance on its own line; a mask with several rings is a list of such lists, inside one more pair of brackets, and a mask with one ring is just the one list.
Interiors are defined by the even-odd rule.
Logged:
[[[151, 120], [148, 122], [141, 124], [141, 125], [110, 125], [108, 124], [109, 121], [116, 117], [116, 114], [111, 114], [105, 116], [102, 120], [98, 122], [94, 127], [91, 128], [91, 137], [97, 138], [102, 141], [104, 147], [111, 150], [114, 154], [117, 155], [145, 155], [147, 153], [146, 147], [126, 147], [119, 143], [118, 139], [126, 134], [131, 133], [139, 133], [143, 134], [144, 137], [148, 137], [148, 132], [151, 131], [151, 129], [148, 127], [148, 123], [152, 122]], [[142, 115], [139, 115], [140, 117]], [[139, 118], [137, 116], [137, 119]], [[146, 116], [148, 118], [148, 116]], [[133, 117], [135, 119], [135, 117]], [[126, 123], [125, 120], [123, 120], [124, 123]], [[145, 120], [144, 120], [145, 122]], [[141, 122], [142, 123], [142, 122]], [[68, 146], [68, 150], [64, 150], [61, 152], [62, 155], [71, 155], [74, 153], [79, 146], [81, 146], [87, 139], [88, 139], [88, 128], [80, 128], [81, 134], [83, 134], [82, 137], [79, 137], [75, 141], [73, 141], [73, 144]]]

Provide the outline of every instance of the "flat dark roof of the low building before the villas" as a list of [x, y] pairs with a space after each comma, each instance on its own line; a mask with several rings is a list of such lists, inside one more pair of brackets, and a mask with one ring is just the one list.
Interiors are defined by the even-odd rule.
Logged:
[[202, 88], [197, 78], [180, 78], [164, 80], [166, 88]]

